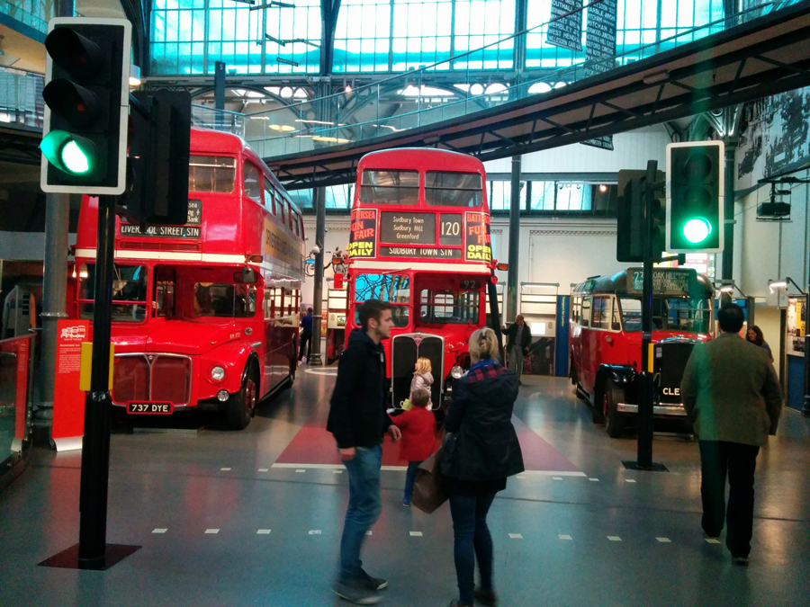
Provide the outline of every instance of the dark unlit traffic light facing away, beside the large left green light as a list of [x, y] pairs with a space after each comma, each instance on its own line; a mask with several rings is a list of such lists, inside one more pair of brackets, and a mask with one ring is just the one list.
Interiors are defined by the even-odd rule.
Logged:
[[188, 91], [137, 91], [130, 112], [131, 218], [146, 223], [188, 223], [191, 95]]

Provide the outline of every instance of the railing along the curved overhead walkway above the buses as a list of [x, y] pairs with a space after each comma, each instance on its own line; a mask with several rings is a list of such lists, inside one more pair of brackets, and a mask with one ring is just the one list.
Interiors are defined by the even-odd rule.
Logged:
[[[482, 80], [487, 82], [491, 76], [497, 75], [496, 72], [483, 74], [480, 69], [457, 68], [464, 64], [469, 66], [472, 62], [469, 58], [476, 53], [481, 54], [485, 49], [498, 47], [505, 42], [510, 45], [517, 44], [518, 39], [525, 40], [528, 35], [537, 35], [542, 28], [559, 19], [558, 17], [480, 49], [470, 50], [417, 70], [390, 76], [347, 93], [332, 94], [248, 114], [245, 138], [257, 150], [259, 156], [273, 157], [382, 137], [405, 129], [458, 119], [503, 103], [545, 94], [554, 88], [652, 57], [743, 22], [752, 21], [790, 4], [797, 4], [798, 1], [763, 2], [715, 22], [682, 29], [674, 35], [617, 54], [615, 57], [586, 60], [584, 49], [581, 52], [574, 51], [570, 67], [518, 70], [517, 73], [502, 76], [509, 79], [509, 82], [503, 85], [482, 85]], [[596, 2], [598, 0], [591, 0], [590, 4]], [[584, 8], [587, 8], [587, 5]], [[451, 75], [452, 85], [440, 89], [437, 85], [430, 84], [435, 83], [437, 76], [442, 75]], [[415, 109], [392, 116], [385, 115], [383, 104], [390, 106], [394, 101], [412, 104]], [[375, 107], [370, 109], [370, 106]], [[356, 112], [358, 115], [363, 114], [360, 121], [354, 121]], [[370, 119], [369, 113], [373, 114]]]

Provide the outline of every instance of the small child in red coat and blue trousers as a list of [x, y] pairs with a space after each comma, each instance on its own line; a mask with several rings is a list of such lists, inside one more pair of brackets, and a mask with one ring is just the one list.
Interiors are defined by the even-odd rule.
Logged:
[[402, 505], [410, 507], [413, 495], [413, 481], [416, 480], [419, 464], [427, 460], [436, 447], [436, 417], [428, 411], [430, 393], [418, 388], [410, 395], [413, 408], [393, 418], [393, 423], [402, 431], [400, 457], [408, 460], [408, 473], [405, 475], [405, 495]]

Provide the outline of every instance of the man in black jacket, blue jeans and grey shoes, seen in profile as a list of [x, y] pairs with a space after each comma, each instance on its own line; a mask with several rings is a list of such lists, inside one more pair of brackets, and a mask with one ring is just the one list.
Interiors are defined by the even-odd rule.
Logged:
[[388, 585], [363, 570], [360, 549], [365, 532], [383, 509], [380, 469], [383, 437], [394, 442], [400, 429], [385, 411], [385, 353], [380, 342], [391, 336], [391, 306], [369, 299], [358, 310], [360, 325], [349, 335], [338, 362], [327, 430], [335, 435], [349, 475], [349, 503], [340, 540], [340, 574], [332, 585], [338, 596], [359, 605], [379, 603], [377, 594]]

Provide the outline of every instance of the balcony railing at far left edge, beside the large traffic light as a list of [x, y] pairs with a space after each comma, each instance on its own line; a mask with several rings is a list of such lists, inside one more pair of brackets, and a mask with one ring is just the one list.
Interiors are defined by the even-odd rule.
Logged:
[[0, 128], [42, 130], [45, 77], [16, 67], [0, 67]]

